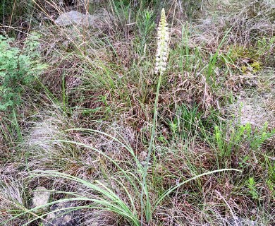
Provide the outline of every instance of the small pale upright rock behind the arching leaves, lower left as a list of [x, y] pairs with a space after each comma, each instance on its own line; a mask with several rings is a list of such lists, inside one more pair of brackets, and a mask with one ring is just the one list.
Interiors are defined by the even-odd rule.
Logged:
[[[43, 190], [47, 190], [47, 189], [44, 188], [44, 186], [37, 186], [35, 191], [33, 191], [32, 208], [44, 206], [49, 202], [50, 192], [43, 191]], [[43, 208], [39, 208], [35, 210], [35, 212], [41, 212], [46, 210], [47, 210], [47, 206], [44, 206]]]

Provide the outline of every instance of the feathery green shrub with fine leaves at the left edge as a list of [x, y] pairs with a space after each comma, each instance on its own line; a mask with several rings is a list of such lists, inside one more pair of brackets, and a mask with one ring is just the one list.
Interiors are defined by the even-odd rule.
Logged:
[[24, 85], [30, 85], [44, 69], [37, 52], [38, 38], [31, 35], [20, 50], [10, 45], [11, 38], [0, 35], [0, 111], [20, 104]]

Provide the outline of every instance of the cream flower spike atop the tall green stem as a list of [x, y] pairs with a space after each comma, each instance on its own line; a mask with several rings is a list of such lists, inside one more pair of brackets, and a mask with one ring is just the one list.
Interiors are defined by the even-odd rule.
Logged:
[[156, 54], [156, 66], [154, 72], [157, 74], [163, 74], [166, 70], [166, 62], [169, 52], [169, 28], [166, 22], [166, 16], [164, 8], [161, 10], [161, 20], [159, 21], [159, 28], [157, 30], [157, 54]]

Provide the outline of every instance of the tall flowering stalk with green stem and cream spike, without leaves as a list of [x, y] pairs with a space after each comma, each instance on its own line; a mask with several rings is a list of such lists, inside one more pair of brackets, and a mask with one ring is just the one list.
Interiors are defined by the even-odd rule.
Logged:
[[[166, 62], [168, 58], [169, 53], [169, 28], [166, 22], [166, 16], [164, 8], [161, 10], [161, 20], [159, 21], [159, 28], [157, 31], [157, 54], [156, 54], [156, 65], [154, 68], [154, 72], [156, 74], [159, 73], [159, 81], [157, 83], [157, 93], [156, 93], [156, 99], [154, 100], [154, 118], [153, 118], [153, 126], [152, 126], [152, 132], [151, 132], [151, 138], [147, 153], [147, 158], [144, 166], [144, 172], [143, 172], [143, 182], [142, 182], [142, 192], [141, 192], [141, 206], [142, 206], [142, 213], [141, 213], [141, 225], [144, 225], [144, 213], [143, 208], [145, 207], [145, 217], [146, 221], [149, 222], [149, 220], [152, 219], [152, 208], [151, 208], [151, 202], [149, 200], [149, 192], [147, 189], [146, 184], [146, 177], [147, 177], [147, 169], [149, 166], [149, 160], [151, 157], [152, 150], [154, 149], [154, 138], [155, 138], [155, 131], [156, 131], [156, 125], [157, 125], [157, 102], [159, 101], [159, 88], [161, 85], [161, 77], [166, 70]], [[143, 198], [145, 196], [146, 203], [144, 205]]]

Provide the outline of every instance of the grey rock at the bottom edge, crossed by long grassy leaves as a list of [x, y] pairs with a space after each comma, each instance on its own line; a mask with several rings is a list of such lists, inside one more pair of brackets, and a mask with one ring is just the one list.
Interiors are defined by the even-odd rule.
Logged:
[[44, 220], [44, 226], [78, 226], [80, 225], [80, 213], [73, 209], [75, 203], [55, 203]]

